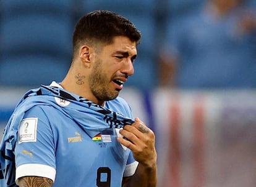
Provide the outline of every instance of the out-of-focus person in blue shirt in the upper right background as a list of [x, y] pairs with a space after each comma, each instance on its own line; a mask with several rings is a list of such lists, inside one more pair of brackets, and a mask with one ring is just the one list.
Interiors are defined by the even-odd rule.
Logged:
[[256, 14], [246, 0], [208, 0], [169, 17], [160, 85], [182, 89], [256, 86]]

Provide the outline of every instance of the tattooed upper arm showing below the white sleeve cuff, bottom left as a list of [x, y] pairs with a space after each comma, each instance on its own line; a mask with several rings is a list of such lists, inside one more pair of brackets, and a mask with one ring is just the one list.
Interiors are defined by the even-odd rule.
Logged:
[[20, 187], [52, 187], [53, 181], [45, 177], [21, 177], [19, 178]]

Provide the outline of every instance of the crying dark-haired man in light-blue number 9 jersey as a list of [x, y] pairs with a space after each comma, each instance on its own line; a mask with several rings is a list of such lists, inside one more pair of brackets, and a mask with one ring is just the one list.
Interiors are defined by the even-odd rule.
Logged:
[[7, 186], [156, 186], [155, 135], [117, 97], [134, 73], [139, 41], [113, 12], [79, 20], [66, 78], [27, 92], [7, 124]]

